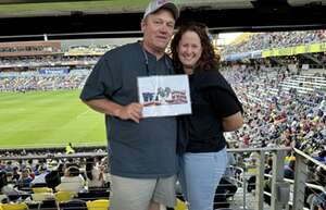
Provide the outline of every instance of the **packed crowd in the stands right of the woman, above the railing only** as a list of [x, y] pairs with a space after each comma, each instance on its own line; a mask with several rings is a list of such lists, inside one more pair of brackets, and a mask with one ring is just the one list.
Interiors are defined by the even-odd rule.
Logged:
[[[226, 74], [246, 108], [246, 124], [234, 134], [241, 147], [285, 145], [310, 155], [324, 150], [325, 90], [316, 86], [312, 91], [302, 91], [300, 84], [287, 86], [298, 75], [280, 69], [255, 71], [239, 65]], [[325, 84], [326, 77], [321, 77], [319, 83]]]

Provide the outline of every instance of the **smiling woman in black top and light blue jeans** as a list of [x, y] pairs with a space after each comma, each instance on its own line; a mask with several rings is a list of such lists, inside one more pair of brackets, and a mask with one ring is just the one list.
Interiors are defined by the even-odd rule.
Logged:
[[214, 193], [227, 163], [224, 132], [242, 125], [242, 107], [220, 74], [218, 60], [203, 24], [179, 28], [171, 50], [175, 71], [189, 75], [192, 114], [184, 128], [181, 186], [190, 210], [213, 209]]

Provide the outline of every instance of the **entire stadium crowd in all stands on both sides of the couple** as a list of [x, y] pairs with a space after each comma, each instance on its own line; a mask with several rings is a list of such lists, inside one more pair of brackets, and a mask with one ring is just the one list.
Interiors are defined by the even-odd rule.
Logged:
[[[246, 52], [262, 50], [267, 48], [280, 48], [298, 46], [312, 42], [322, 42], [326, 40], [325, 30], [309, 32], [285, 32], [285, 33], [260, 33], [250, 36], [247, 41], [236, 46], [229, 46], [223, 53]], [[75, 48], [75, 50], [80, 48]], [[84, 48], [83, 48], [84, 49]], [[83, 51], [83, 50], [82, 50]], [[55, 57], [48, 61], [45, 58], [32, 59], [1, 59], [0, 65], [33, 65], [71, 62], [71, 61], [89, 61], [95, 62], [98, 57]], [[297, 63], [291, 59], [284, 60], [284, 63]], [[27, 64], [26, 64], [27, 63]], [[53, 73], [54, 72], [54, 73]], [[50, 71], [45, 74], [39, 71], [27, 72], [0, 72], [0, 91], [27, 91], [27, 90], [55, 90], [55, 89], [75, 89], [83, 87], [90, 70], [78, 69], [68, 70], [67, 72]], [[250, 65], [236, 64], [223, 67], [223, 74], [231, 83], [237, 95], [239, 96], [244, 108], [244, 125], [237, 132], [226, 134], [230, 147], [293, 147], [304, 151], [312, 158], [322, 163], [326, 163], [326, 75], [325, 74], [299, 74], [289, 71], [284, 66], [267, 67], [265, 64]], [[26, 152], [1, 153], [2, 157], [24, 156]], [[47, 155], [47, 151], [29, 153], [33, 156]], [[234, 155], [235, 161], [230, 165], [242, 168], [244, 172], [250, 169], [256, 169], [258, 153]], [[65, 160], [29, 160], [29, 161], [0, 161], [0, 171], [5, 172], [5, 177], [17, 189], [16, 194], [24, 194], [24, 189], [30, 193], [33, 182], [42, 177], [42, 174], [51, 174], [52, 171], [61, 171], [61, 183], [65, 180], [76, 181], [76, 192], [88, 190], [89, 169], [93, 169], [88, 163], [93, 163], [99, 171], [105, 172], [105, 177], [101, 186], [108, 186], [110, 173], [108, 168], [103, 170], [104, 160], [70, 159]], [[294, 162], [293, 153], [289, 152], [286, 159], [285, 177], [293, 180]], [[60, 166], [61, 165], [61, 166]], [[64, 165], [65, 173], [61, 168]], [[266, 153], [265, 173], [272, 172], [269, 153]], [[325, 187], [326, 172], [323, 168], [311, 166], [311, 173], [306, 182]], [[101, 170], [100, 170], [101, 168]], [[64, 175], [65, 174], [65, 175]], [[235, 175], [235, 174], [233, 174]], [[66, 176], [66, 177], [65, 177]], [[103, 176], [103, 175], [102, 175]], [[104, 176], [103, 176], [104, 177]], [[252, 176], [254, 177], [254, 176]], [[40, 178], [42, 180], [42, 178]], [[250, 180], [250, 178], [249, 178]], [[45, 183], [45, 178], [42, 180]], [[248, 185], [248, 192], [254, 189], [254, 178]], [[62, 187], [62, 186], [61, 186]], [[63, 188], [53, 188], [60, 190]], [[70, 186], [68, 186], [70, 187]], [[2, 187], [3, 188], [3, 187]], [[265, 186], [268, 190], [268, 186]], [[269, 189], [271, 190], [271, 189]], [[2, 194], [5, 194], [2, 189]], [[305, 205], [308, 197], [314, 195], [312, 199], [315, 202], [325, 203], [325, 195], [322, 192], [314, 192], [306, 187]], [[8, 199], [8, 198], [5, 198]], [[267, 198], [265, 199], [268, 200]], [[321, 201], [322, 200], [322, 201]], [[267, 201], [268, 202], [268, 201]], [[324, 208], [325, 210], [325, 208]]]

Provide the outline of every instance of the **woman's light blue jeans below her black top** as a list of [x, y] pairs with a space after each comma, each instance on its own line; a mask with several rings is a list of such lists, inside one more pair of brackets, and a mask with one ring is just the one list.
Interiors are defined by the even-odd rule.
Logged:
[[215, 189], [226, 165], [226, 148], [218, 152], [186, 152], [181, 156], [180, 184], [189, 210], [213, 210]]

